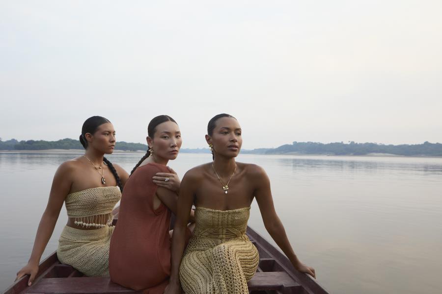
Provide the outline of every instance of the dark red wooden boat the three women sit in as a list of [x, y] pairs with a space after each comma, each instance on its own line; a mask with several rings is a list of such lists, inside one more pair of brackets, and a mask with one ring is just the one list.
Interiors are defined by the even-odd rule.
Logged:
[[[114, 210], [114, 224], [118, 219], [118, 207]], [[328, 294], [309, 275], [293, 268], [287, 257], [275, 246], [247, 227], [247, 235], [259, 252], [259, 265], [249, 281], [250, 294]], [[37, 277], [28, 287], [28, 276], [11, 285], [4, 294], [61, 293], [61, 294], [135, 294], [133, 291], [111, 282], [109, 277], [86, 277], [71, 266], [61, 264], [56, 252], [40, 263]]]

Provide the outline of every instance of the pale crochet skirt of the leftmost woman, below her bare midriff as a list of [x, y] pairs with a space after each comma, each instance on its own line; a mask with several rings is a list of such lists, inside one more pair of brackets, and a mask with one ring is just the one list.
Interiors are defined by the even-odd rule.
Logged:
[[109, 245], [114, 227], [80, 230], [65, 226], [58, 240], [57, 257], [87, 276], [109, 276]]

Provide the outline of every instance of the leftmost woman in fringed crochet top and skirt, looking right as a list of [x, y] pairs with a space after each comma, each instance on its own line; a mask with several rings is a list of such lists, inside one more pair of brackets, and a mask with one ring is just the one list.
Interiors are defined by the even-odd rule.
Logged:
[[86, 149], [84, 155], [62, 163], [55, 172], [28, 264], [17, 273], [17, 279], [30, 275], [29, 286], [64, 201], [69, 218], [59, 239], [58, 259], [86, 275], [109, 275], [111, 212], [129, 175], [104, 157], [115, 147], [115, 130], [109, 120], [100, 116], [87, 119], [80, 142]]

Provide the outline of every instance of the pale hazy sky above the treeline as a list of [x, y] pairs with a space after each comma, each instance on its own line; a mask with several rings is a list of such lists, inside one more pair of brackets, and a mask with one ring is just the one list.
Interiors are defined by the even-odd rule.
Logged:
[[442, 142], [442, 1], [0, 0], [0, 137], [78, 138], [108, 118], [183, 147], [235, 116], [243, 148]]

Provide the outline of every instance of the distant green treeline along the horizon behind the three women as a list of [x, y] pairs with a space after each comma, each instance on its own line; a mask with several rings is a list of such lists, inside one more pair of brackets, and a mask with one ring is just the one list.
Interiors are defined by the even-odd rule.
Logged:
[[[1, 141], [0, 150], [45, 150], [45, 149], [83, 149], [80, 141], [63, 139], [58, 141]], [[117, 142], [115, 150], [138, 151], [147, 150], [147, 145], [140, 143]], [[208, 153], [207, 148], [181, 149], [183, 153]], [[366, 155], [369, 153], [388, 153], [403, 156], [442, 156], [442, 144], [429, 143], [416, 145], [383, 145], [376, 143], [355, 143], [345, 144], [316, 142], [293, 142], [293, 144], [282, 145], [277, 148], [259, 148], [253, 150], [242, 150], [245, 154], [327, 154], [327, 155]]]

